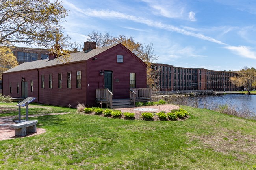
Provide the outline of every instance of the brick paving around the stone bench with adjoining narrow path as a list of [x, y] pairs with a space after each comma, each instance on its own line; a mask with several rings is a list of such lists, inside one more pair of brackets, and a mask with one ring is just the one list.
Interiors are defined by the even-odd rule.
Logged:
[[[64, 115], [67, 113], [50, 113], [50, 114], [40, 114], [40, 115], [29, 115], [30, 117], [38, 117], [38, 116], [45, 116], [45, 115]], [[17, 116], [6, 116], [6, 117], [0, 117], [0, 141], [7, 140], [7, 139], [13, 139], [13, 138], [19, 138], [15, 137], [15, 129], [10, 128], [10, 124], [14, 124], [13, 118]], [[26, 115], [23, 115], [21, 117], [26, 117]], [[45, 133], [46, 130], [42, 128], [37, 128], [37, 132], [35, 133], [28, 133], [27, 136], [35, 136], [42, 133]], [[25, 137], [27, 137], [25, 136]]]

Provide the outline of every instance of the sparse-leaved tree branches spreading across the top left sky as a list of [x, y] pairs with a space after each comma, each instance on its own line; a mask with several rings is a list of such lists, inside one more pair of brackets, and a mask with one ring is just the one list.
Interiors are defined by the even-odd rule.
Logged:
[[66, 40], [59, 22], [67, 16], [58, 0], [0, 0], [0, 45], [35, 44], [50, 48]]

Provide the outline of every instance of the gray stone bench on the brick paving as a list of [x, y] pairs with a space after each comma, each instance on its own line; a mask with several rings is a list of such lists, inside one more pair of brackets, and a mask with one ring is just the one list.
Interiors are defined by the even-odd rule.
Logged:
[[37, 132], [36, 124], [37, 120], [35, 121], [25, 121], [22, 123], [11, 124], [11, 128], [15, 128], [15, 136], [26, 136], [27, 132]]

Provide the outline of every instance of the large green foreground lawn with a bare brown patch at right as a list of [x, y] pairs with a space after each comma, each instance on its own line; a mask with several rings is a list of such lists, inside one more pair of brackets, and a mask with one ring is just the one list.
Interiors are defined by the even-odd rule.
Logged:
[[256, 164], [255, 121], [181, 107], [190, 113], [185, 121], [34, 117], [46, 133], [0, 141], [0, 170], [248, 170]]

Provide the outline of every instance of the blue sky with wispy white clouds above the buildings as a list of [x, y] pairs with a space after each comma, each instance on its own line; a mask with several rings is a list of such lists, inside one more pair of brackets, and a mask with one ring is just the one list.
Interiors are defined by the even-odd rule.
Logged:
[[72, 41], [111, 32], [152, 42], [158, 63], [237, 71], [256, 67], [256, 1], [62, 0]]

